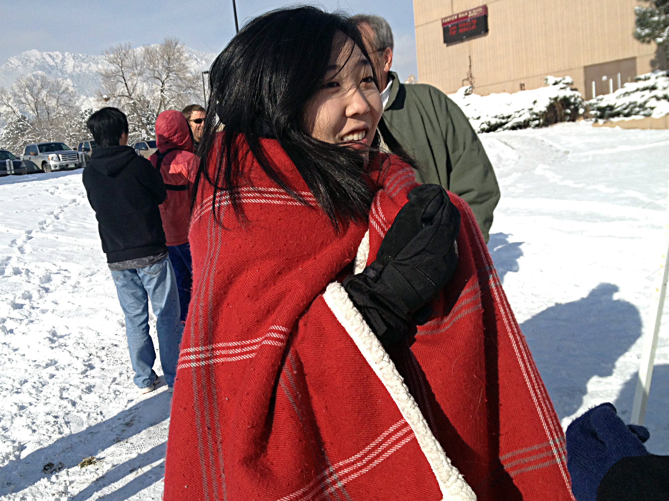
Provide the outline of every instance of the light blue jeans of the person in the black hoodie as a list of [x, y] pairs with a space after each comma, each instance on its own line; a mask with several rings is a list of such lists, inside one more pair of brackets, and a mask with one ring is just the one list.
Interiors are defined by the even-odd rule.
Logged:
[[151, 386], [157, 375], [153, 371], [156, 352], [149, 335], [149, 299], [156, 315], [156, 330], [165, 382], [172, 386], [177, 374], [179, 343], [183, 323], [179, 319], [177, 281], [169, 259], [160, 263], [123, 271], [112, 271], [118, 302], [125, 314], [126, 337], [134, 383], [140, 388]]

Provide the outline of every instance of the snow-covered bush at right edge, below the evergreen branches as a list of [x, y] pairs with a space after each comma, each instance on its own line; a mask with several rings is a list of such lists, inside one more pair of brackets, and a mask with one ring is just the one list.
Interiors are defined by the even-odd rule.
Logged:
[[589, 100], [593, 118], [659, 118], [669, 114], [669, 71], [653, 71], [625, 83], [613, 94]]

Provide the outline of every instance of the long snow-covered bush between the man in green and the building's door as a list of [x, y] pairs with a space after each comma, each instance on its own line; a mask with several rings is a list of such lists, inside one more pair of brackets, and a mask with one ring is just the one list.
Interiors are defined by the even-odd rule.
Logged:
[[546, 127], [574, 122], [583, 113], [583, 96], [571, 88], [571, 77], [545, 78], [546, 86], [514, 94], [478, 96], [463, 87], [448, 96], [469, 118], [476, 132]]

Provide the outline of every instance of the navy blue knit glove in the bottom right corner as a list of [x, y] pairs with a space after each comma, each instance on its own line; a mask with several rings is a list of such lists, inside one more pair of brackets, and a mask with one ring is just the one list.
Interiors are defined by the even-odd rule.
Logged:
[[650, 434], [643, 426], [625, 425], [612, 403], [602, 403], [567, 428], [567, 469], [578, 501], [595, 501], [597, 487], [618, 460], [644, 456]]

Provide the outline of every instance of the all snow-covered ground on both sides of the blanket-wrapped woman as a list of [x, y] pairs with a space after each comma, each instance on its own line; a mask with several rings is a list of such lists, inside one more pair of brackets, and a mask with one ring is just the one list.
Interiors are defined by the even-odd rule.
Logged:
[[[613, 401], [629, 420], [669, 131], [577, 123], [481, 139], [502, 185], [490, 249], [559, 417]], [[169, 395], [132, 385], [81, 171], [0, 178], [0, 218], [0, 498], [160, 499]], [[663, 331], [652, 452], [669, 454], [668, 409]]]

